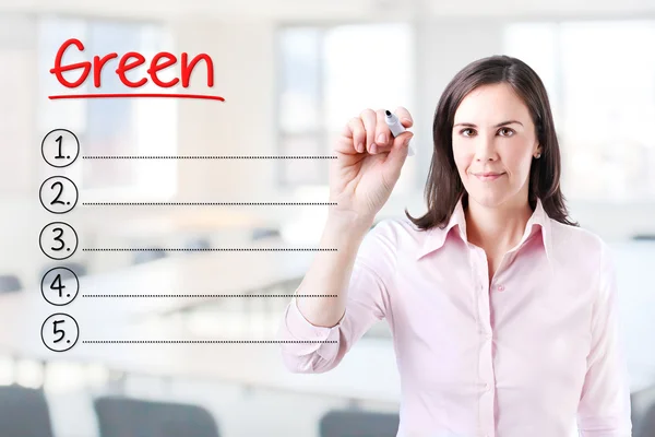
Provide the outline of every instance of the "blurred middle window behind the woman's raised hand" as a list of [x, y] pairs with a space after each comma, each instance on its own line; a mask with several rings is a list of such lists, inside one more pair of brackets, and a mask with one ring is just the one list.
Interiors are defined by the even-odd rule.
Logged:
[[[333, 155], [349, 118], [364, 108], [413, 109], [413, 33], [405, 24], [284, 27], [278, 34], [278, 151]], [[325, 160], [279, 160], [286, 187], [325, 186]], [[394, 192], [414, 188], [407, 160]]]

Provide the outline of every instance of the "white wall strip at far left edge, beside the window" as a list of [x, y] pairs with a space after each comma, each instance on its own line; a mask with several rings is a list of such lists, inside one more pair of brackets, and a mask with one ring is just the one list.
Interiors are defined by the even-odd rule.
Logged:
[[1, 273], [17, 270], [31, 274], [25, 261], [39, 253], [34, 218], [39, 205], [36, 175], [40, 157], [40, 139], [35, 132], [35, 36], [34, 22], [28, 17], [0, 15]]

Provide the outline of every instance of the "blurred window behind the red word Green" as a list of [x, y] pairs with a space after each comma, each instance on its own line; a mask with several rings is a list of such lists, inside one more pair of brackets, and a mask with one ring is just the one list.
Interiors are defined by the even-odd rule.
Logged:
[[[69, 129], [80, 141], [79, 161], [67, 167], [81, 193], [123, 200], [126, 196], [141, 199], [167, 198], [175, 194], [177, 167], [174, 160], [84, 160], [97, 155], [170, 155], [177, 151], [177, 104], [175, 99], [88, 98], [50, 101], [55, 94], [170, 92], [148, 82], [140, 88], [129, 88], [116, 74], [117, 59], [102, 70], [100, 87], [93, 85], [93, 74], [78, 88], [66, 88], [49, 72], [57, 50], [75, 37], [84, 45], [79, 51], [67, 50], [63, 62], [92, 61], [94, 56], [128, 51], [142, 54], [146, 62], [128, 73], [132, 80], [146, 76], [148, 60], [158, 51], [172, 51], [172, 40], [164, 28], [147, 23], [44, 17], [38, 25], [38, 129], [41, 137], [52, 129]], [[176, 75], [175, 67], [160, 72], [163, 80]], [[63, 73], [74, 81], [80, 70]], [[156, 88], [156, 90], [154, 90]], [[44, 168], [44, 175], [51, 169]], [[166, 175], [166, 177], [162, 177]]]

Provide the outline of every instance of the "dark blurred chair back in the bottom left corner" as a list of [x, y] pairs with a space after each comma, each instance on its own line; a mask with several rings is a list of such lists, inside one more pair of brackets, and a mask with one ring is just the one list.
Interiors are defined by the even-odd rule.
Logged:
[[50, 411], [43, 390], [0, 387], [0, 436], [53, 437]]

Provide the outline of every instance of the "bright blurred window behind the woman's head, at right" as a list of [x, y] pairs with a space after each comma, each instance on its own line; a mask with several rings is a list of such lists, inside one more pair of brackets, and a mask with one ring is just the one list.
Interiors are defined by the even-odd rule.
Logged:
[[505, 52], [551, 98], [568, 199], [655, 199], [655, 21], [519, 23]]

